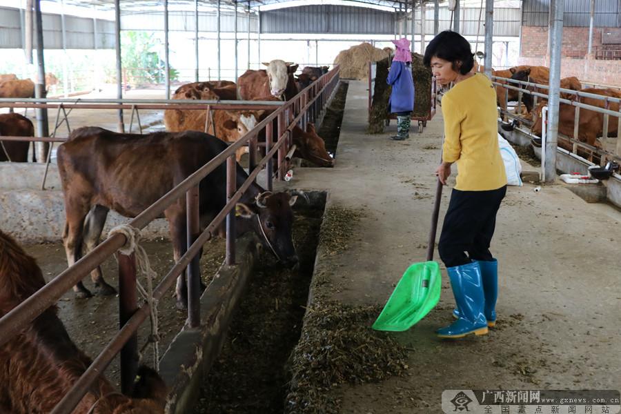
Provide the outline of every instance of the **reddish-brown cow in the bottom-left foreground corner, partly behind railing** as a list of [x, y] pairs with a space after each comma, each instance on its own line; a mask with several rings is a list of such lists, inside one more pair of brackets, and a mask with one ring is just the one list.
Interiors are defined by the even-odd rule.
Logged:
[[[43, 287], [37, 262], [0, 231], [0, 317]], [[70, 339], [56, 305], [0, 346], [0, 413], [50, 413], [91, 364]], [[100, 375], [73, 413], [164, 413], [166, 385], [141, 366], [133, 398]], [[90, 410], [93, 411], [90, 411]]]

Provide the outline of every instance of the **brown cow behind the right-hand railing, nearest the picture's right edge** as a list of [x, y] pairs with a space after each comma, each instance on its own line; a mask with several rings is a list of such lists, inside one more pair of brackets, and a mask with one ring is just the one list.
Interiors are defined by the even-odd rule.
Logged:
[[[592, 93], [595, 95], [603, 95], [607, 97], [621, 98], [621, 92], [613, 89], [596, 89], [586, 88], [580, 92]], [[580, 97], [580, 102], [586, 105], [598, 106], [604, 108], [604, 101], [593, 98]], [[541, 137], [541, 111], [546, 102], [541, 102], [536, 110], [533, 111], [533, 126], [531, 131]], [[618, 103], [609, 103], [609, 109], [619, 111]], [[567, 103], [560, 103], [558, 114], [558, 132], [566, 137], [573, 137], [573, 126], [575, 118], [575, 106]], [[609, 117], [608, 136], [616, 137], [618, 126], [618, 117]], [[602, 148], [602, 144], [597, 140], [604, 132], [604, 114], [580, 108], [580, 124], [578, 124], [578, 140], [586, 142], [596, 148]], [[573, 137], [575, 138], [575, 137]]]

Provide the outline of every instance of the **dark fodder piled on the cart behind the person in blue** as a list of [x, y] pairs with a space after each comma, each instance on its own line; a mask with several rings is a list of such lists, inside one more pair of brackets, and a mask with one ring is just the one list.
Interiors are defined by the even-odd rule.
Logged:
[[[391, 97], [391, 87], [386, 84], [388, 78], [388, 58], [377, 62], [375, 71], [375, 88], [373, 103], [368, 115], [368, 132], [381, 134], [386, 126], [386, 119], [390, 114], [388, 100]], [[412, 53], [412, 77], [414, 79], [414, 110], [413, 117], [426, 117], [431, 110], [431, 69], [423, 64], [423, 57]]]

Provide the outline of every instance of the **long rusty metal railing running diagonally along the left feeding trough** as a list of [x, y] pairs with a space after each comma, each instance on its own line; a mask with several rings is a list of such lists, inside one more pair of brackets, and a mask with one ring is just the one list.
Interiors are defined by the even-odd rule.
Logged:
[[[235, 264], [235, 204], [244, 192], [255, 182], [257, 175], [264, 166], [268, 168], [268, 190], [272, 189], [272, 158], [278, 154], [277, 163], [279, 178], [284, 177], [282, 166], [286, 166], [285, 155], [290, 150], [293, 128], [302, 123], [315, 121], [323, 110], [335, 86], [339, 81], [339, 68], [335, 68], [319, 78], [311, 86], [299, 92], [293, 99], [282, 103], [273, 113], [259, 122], [253, 130], [231, 144], [226, 150], [216, 155], [207, 164], [187, 177], [177, 187], [172, 188], [152, 206], [132, 219], [128, 224], [134, 228], [143, 229], [153, 219], [161, 217], [168, 206], [177, 202], [177, 199], [186, 197], [187, 234], [186, 252], [179, 261], [168, 271], [166, 276], [153, 290], [152, 297], [157, 301], [172, 286], [175, 279], [188, 268], [188, 326], [196, 328], [200, 325], [200, 270], [198, 253], [209, 239], [215, 234], [218, 226], [226, 219], [226, 263]], [[40, 100], [39, 100], [40, 101]], [[116, 108], [116, 107], [115, 107]], [[277, 123], [277, 131], [273, 130], [273, 121]], [[248, 179], [239, 188], [236, 188], [236, 161], [235, 152], [242, 146], [250, 146], [250, 154], [256, 152], [257, 135], [266, 131], [266, 155], [258, 162], [250, 157]], [[276, 140], [273, 140], [273, 133]], [[3, 137], [4, 138], [4, 137]], [[24, 139], [24, 137], [20, 137]], [[28, 139], [27, 139], [28, 140]], [[30, 139], [32, 140], [32, 139]], [[59, 139], [55, 139], [59, 141]], [[226, 206], [216, 215], [206, 229], [199, 230], [198, 185], [201, 179], [226, 161]], [[129, 393], [137, 370], [137, 330], [150, 313], [148, 303], [141, 306], [137, 303], [136, 295], [136, 263], [133, 254], [124, 255], [117, 250], [126, 244], [126, 237], [119, 233], [109, 236], [90, 253], [83, 256], [70, 268], [54, 277], [34, 295], [13, 308], [0, 318], [0, 346], [18, 335], [43, 311], [52, 306], [68, 290], [72, 288], [91, 270], [94, 270], [108, 257], [116, 254], [119, 260], [119, 319], [121, 328], [110, 342], [103, 348], [92, 364], [63, 396], [55, 407], [53, 414], [70, 413], [88, 392], [91, 384], [105, 371], [112, 359], [121, 354], [121, 391]]]

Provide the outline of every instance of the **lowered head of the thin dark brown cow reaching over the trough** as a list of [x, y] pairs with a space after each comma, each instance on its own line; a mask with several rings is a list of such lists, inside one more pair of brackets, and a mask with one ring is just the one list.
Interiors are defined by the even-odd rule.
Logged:
[[253, 221], [252, 228], [261, 244], [285, 266], [297, 264], [293, 246], [293, 210], [291, 206], [301, 195], [308, 202], [308, 196], [301, 191], [292, 193], [259, 193], [252, 204], [238, 203], [235, 214], [238, 219]]

